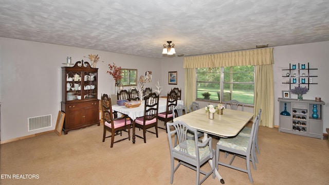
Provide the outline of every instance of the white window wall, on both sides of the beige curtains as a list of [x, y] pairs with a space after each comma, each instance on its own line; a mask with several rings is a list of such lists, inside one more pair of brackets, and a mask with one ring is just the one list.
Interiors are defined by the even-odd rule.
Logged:
[[[289, 46], [280, 46], [275, 47], [273, 50], [274, 61], [273, 65], [273, 74], [275, 81], [275, 126], [279, 126], [279, 107], [278, 107], [278, 98], [282, 97], [282, 90], [289, 90], [288, 84], [282, 84], [287, 79], [283, 78], [287, 71], [282, 71], [282, 69], [289, 68], [289, 63], [291, 64], [307, 64], [311, 68], [318, 68], [318, 70], [312, 70], [312, 75], [318, 76], [313, 78], [314, 83], [309, 87], [309, 92], [303, 96], [304, 99], [315, 100], [315, 97], [321, 97], [321, 100], [324, 101], [325, 107], [323, 109], [323, 133], [325, 133], [325, 128], [329, 127], [329, 121], [327, 121], [327, 116], [329, 115], [329, 41], [326, 42], [317, 42], [317, 43], [308, 43], [308, 44], [298, 44], [298, 45], [289, 45]], [[176, 71], [178, 73], [178, 84], [179, 88], [184, 89], [184, 69], [182, 69], [184, 58], [167, 58], [161, 60], [161, 69], [162, 69], [162, 84], [164, 90], [170, 90], [174, 85], [168, 85], [168, 71]], [[167, 91], [166, 91], [167, 92]], [[184, 93], [182, 93], [184, 94]], [[296, 99], [297, 95], [291, 95], [292, 98]], [[184, 99], [183, 99], [184, 100]], [[206, 101], [197, 101], [200, 104], [200, 107], [205, 107], [209, 102]], [[245, 107], [245, 111], [253, 112], [253, 108]]]

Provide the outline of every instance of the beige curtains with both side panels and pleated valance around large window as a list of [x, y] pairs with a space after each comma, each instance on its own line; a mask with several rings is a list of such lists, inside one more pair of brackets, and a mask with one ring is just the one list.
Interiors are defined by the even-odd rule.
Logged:
[[196, 99], [196, 68], [254, 65], [257, 66], [255, 70], [254, 114], [258, 114], [259, 109], [262, 108], [260, 124], [272, 128], [274, 126], [273, 63], [273, 48], [185, 57], [184, 102], [186, 102], [186, 106], [189, 106]]

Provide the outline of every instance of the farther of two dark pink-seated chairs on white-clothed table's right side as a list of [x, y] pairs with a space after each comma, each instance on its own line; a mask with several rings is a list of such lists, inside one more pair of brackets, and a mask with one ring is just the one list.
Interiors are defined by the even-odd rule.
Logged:
[[177, 93], [175, 90], [171, 90], [167, 95], [167, 105], [166, 105], [166, 112], [159, 113], [158, 119], [165, 122], [165, 127], [159, 127], [161, 129], [166, 130], [166, 124], [169, 121], [173, 120], [173, 109], [177, 105]]

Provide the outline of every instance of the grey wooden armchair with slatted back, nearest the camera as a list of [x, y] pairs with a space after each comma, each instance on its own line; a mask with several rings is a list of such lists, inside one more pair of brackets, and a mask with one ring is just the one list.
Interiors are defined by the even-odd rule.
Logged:
[[[171, 127], [174, 130], [171, 131]], [[187, 131], [193, 133], [194, 140], [187, 139]], [[211, 174], [212, 178], [215, 178], [215, 151], [211, 148], [211, 137], [204, 142], [197, 141], [197, 131], [195, 128], [190, 127], [182, 121], [175, 121], [167, 124], [167, 133], [169, 140], [170, 159], [171, 159], [171, 177], [170, 183], [174, 181], [174, 173], [180, 166], [180, 164], [196, 171], [196, 183], [197, 185], [204, 182]], [[172, 142], [172, 137], [178, 138], [178, 144]], [[178, 160], [176, 167], [174, 166], [175, 159]], [[210, 165], [210, 171], [205, 172], [201, 170], [201, 166], [212, 159]], [[200, 174], [205, 175], [200, 180]]]

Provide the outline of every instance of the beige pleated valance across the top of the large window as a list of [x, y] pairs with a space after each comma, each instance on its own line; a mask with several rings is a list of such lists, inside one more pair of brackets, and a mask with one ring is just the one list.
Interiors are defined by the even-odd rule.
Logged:
[[273, 48], [184, 57], [184, 68], [267, 65], [273, 63]]

